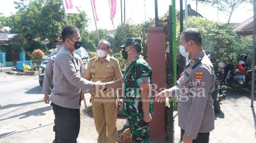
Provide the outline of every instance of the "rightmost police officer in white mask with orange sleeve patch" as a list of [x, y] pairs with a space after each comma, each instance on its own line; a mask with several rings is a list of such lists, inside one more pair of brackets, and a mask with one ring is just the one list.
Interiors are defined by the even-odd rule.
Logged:
[[214, 129], [214, 109], [211, 93], [214, 91], [214, 69], [202, 48], [201, 33], [188, 28], [181, 33], [179, 52], [190, 61], [179, 77], [178, 86], [158, 93], [156, 100], [178, 97], [178, 122], [184, 143], [209, 142]]

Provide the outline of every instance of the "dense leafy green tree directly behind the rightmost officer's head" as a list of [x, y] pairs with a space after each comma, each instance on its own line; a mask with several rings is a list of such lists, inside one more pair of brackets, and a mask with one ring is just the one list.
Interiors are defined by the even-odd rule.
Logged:
[[211, 52], [215, 67], [218, 62], [227, 61], [230, 54], [234, 56], [233, 62], [237, 63], [239, 55], [251, 53], [250, 41], [241, 40], [228, 24], [199, 17], [189, 17], [188, 23], [189, 27], [197, 28], [201, 32], [203, 49]]

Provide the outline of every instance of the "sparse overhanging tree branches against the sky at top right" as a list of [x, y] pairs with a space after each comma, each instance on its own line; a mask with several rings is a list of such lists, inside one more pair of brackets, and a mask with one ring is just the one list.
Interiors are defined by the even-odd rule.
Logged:
[[[194, 0], [195, 1], [195, 0]], [[197, 0], [200, 3], [210, 4], [214, 7], [217, 7], [218, 10], [229, 15], [229, 24], [233, 12], [242, 4], [252, 2], [252, 0]]]

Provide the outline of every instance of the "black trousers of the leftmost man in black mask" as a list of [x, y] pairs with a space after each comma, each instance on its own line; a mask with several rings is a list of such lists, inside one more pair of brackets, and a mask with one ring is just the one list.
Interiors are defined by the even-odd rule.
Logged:
[[76, 143], [80, 130], [80, 109], [70, 109], [60, 107], [54, 103], [53, 112], [55, 115], [54, 123], [58, 132], [58, 143]]

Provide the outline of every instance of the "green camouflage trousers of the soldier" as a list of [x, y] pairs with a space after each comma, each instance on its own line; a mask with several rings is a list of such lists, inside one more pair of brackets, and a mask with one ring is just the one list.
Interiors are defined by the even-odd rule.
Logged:
[[[136, 118], [137, 119], [137, 118]], [[142, 119], [133, 120], [128, 118], [131, 134], [133, 134], [133, 142], [150, 142], [149, 123]]]

